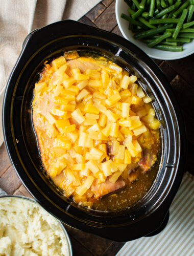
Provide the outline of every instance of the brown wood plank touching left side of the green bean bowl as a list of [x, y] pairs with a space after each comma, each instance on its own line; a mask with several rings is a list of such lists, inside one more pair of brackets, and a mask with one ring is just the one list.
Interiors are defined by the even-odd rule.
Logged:
[[108, 31], [114, 29], [117, 25], [115, 17], [115, 2], [113, 2], [94, 22], [94, 24]]

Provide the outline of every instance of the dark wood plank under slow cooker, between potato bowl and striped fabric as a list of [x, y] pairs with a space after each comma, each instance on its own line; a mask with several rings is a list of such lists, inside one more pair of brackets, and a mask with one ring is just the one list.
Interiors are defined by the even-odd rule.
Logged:
[[111, 240], [95, 236], [94, 234], [87, 233], [67, 225], [64, 225], [68, 233], [76, 238], [76, 240], [95, 256], [100, 256], [111, 244]]

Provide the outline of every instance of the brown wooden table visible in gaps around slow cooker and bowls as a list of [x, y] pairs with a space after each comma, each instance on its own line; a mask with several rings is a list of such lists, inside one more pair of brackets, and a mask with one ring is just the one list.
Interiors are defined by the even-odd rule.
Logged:
[[[103, 0], [79, 21], [122, 36], [116, 23], [114, 0]], [[194, 155], [194, 55], [178, 60], [163, 61], [154, 59], [154, 61], [159, 65], [171, 83], [172, 89], [180, 103], [188, 136], [186, 170], [194, 175], [194, 168], [192, 166]], [[0, 187], [8, 194], [31, 197], [11, 166], [4, 144], [0, 147], [0, 163]], [[65, 227], [72, 243], [74, 255], [114, 256], [124, 244], [100, 238], [66, 225]]]

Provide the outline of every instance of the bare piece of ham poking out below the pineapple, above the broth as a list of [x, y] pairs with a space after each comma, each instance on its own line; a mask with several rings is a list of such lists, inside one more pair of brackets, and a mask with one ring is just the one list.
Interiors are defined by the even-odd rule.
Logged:
[[125, 181], [122, 178], [119, 178], [115, 183], [111, 183], [109, 180], [98, 184], [98, 180], [91, 186], [91, 191], [94, 193], [95, 198], [98, 199], [109, 193], [112, 193], [126, 185]]

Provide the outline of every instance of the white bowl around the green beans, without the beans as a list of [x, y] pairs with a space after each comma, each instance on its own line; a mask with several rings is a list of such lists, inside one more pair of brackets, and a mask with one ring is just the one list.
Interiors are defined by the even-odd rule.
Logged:
[[116, 20], [120, 32], [122, 32], [123, 36], [128, 39], [129, 41], [133, 42], [134, 45], [138, 46], [141, 50], [146, 52], [150, 57], [155, 59], [180, 59], [184, 58], [192, 53], [194, 53], [194, 40], [187, 44], [183, 45], [182, 52], [169, 52], [169, 51], [162, 51], [157, 49], [149, 48], [144, 42], [138, 39], [134, 39], [134, 33], [130, 31], [129, 22], [127, 20], [120, 17], [122, 13], [129, 15], [127, 9], [128, 5], [124, 2], [124, 0], [116, 0], [115, 12], [116, 12]]

